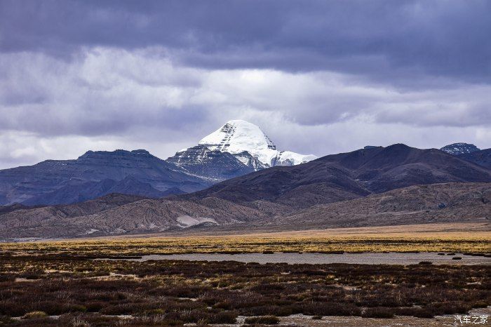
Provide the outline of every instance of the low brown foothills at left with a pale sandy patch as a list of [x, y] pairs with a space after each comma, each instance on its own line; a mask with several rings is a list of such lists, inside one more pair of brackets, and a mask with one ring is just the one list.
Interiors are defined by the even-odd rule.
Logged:
[[[162, 232], [196, 226], [241, 224], [292, 211], [274, 203], [249, 206], [223, 199], [96, 199], [67, 206], [24, 208], [0, 214], [0, 240]], [[116, 198], [116, 199], [114, 199]]]

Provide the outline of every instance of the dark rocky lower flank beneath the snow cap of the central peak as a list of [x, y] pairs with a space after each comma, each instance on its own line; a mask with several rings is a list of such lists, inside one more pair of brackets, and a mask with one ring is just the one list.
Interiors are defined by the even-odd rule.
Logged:
[[[250, 154], [249, 154], [250, 156]], [[250, 156], [250, 160], [254, 158]], [[229, 178], [245, 175], [256, 171], [229, 154], [219, 150], [210, 150], [204, 145], [189, 147], [177, 152], [166, 161], [184, 168], [191, 174], [220, 182]]]

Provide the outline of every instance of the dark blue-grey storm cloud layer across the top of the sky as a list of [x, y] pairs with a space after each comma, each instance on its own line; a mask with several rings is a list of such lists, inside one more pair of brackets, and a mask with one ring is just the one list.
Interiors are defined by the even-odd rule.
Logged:
[[[1, 51], [163, 46], [183, 65], [491, 82], [490, 1], [0, 1]], [[434, 80], [431, 80], [434, 82]], [[425, 83], [430, 83], [426, 81]]]

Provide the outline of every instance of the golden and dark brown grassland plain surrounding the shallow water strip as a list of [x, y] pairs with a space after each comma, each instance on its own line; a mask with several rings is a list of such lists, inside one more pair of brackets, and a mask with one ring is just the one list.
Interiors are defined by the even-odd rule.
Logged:
[[490, 265], [117, 260], [170, 253], [387, 251], [489, 255], [490, 232], [473, 224], [413, 225], [0, 243], [0, 325], [324, 326], [329, 319], [332, 326], [439, 326], [453, 322], [441, 315], [489, 311]]

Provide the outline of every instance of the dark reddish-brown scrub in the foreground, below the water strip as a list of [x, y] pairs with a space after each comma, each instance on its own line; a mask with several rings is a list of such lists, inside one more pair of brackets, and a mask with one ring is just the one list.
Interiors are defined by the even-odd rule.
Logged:
[[204, 325], [236, 323], [237, 316], [266, 324], [291, 314], [428, 318], [490, 305], [490, 274], [490, 266], [135, 262], [4, 253], [0, 317], [13, 326]]

